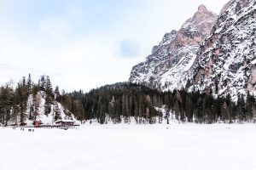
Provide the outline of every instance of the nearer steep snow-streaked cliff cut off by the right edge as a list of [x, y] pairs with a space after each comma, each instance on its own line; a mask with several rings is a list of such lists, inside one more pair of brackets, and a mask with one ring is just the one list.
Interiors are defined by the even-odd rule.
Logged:
[[201, 43], [188, 79], [190, 90], [238, 95], [256, 90], [256, 0], [232, 0]]

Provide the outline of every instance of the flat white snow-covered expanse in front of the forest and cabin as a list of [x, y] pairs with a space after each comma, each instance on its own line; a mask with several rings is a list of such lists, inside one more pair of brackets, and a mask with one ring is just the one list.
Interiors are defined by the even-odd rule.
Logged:
[[256, 167], [254, 124], [92, 124], [34, 133], [0, 127], [0, 137], [1, 170]]

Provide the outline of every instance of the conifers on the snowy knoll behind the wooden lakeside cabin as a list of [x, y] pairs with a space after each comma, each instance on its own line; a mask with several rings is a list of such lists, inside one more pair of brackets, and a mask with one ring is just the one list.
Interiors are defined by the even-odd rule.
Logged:
[[53, 112], [53, 121], [59, 120], [61, 110], [58, 103], [64, 106], [67, 116], [71, 116], [71, 109], [76, 108], [69, 94], [65, 91], [60, 93], [58, 87], [53, 90], [48, 76], [40, 77], [38, 83], [35, 83], [29, 74], [27, 78], [22, 77], [16, 86], [8, 82], [0, 87], [0, 123], [26, 125], [26, 120], [37, 120], [40, 107], [41, 111], [43, 107], [46, 116]]

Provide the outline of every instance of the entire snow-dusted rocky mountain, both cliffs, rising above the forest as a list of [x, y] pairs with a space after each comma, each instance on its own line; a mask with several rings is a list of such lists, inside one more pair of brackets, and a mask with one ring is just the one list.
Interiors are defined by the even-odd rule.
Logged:
[[179, 31], [167, 33], [130, 82], [150, 88], [237, 96], [256, 87], [256, 0], [231, 0], [219, 15], [201, 5]]

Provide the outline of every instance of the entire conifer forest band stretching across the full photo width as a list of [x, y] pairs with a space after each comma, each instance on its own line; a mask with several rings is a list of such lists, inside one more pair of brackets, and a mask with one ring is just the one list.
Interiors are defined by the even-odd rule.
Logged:
[[[15, 87], [15, 88], [14, 88]], [[38, 115], [40, 99], [44, 99], [44, 114], [52, 110], [54, 119], [59, 120], [60, 109], [64, 107], [68, 116], [73, 114], [79, 121], [99, 123], [131, 122], [162, 123], [165, 119], [177, 119], [179, 122], [214, 123], [214, 122], [255, 122], [255, 98], [247, 94], [240, 96], [237, 103], [225, 98], [212, 97], [199, 92], [188, 93], [186, 90], [160, 92], [130, 82], [106, 85], [102, 88], [83, 93], [82, 90], [66, 93], [59, 87], [52, 88], [48, 76], [42, 76], [37, 83], [31, 76], [23, 77], [16, 86], [11, 82], [0, 87], [0, 122], [2, 125], [26, 125], [26, 120], [35, 121]]]

